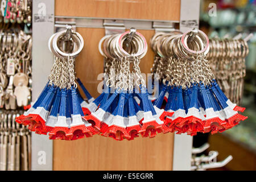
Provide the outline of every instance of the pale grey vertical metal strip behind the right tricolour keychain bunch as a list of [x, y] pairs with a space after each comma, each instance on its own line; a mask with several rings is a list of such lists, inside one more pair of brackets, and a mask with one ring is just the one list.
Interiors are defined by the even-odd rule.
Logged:
[[[181, 0], [180, 3], [180, 31], [199, 28], [200, 0]], [[174, 171], [191, 170], [192, 142], [193, 137], [189, 135], [174, 135]]]

